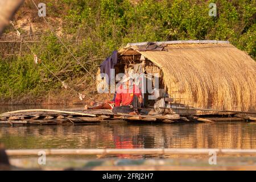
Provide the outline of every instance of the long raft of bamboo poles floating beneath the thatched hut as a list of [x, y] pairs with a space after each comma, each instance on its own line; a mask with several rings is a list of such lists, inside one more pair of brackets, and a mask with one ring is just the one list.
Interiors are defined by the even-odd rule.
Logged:
[[82, 124], [82, 123], [100, 123], [113, 121], [128, 122], [160, 122], [160, 123], [177, 123], [177, 122], [236, 122], [251, 121], [256, 122], [256, 118], [239, 113], [212, 113], [209, 115], [200, 114], [158, 114], [151, 110], [148, 113], [140, 115], [130, 115], [123, 113], [112, 113], [112, 110], [84, 110], [76, 109], [32, 109], [18, 110], [0, 114], [0, 125], [59, 125], [59, 124]]

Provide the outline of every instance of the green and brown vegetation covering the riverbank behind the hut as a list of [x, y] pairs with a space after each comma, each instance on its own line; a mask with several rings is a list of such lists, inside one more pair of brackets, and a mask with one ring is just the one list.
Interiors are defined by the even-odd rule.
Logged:
[[[210, 2], [216, 3], [216, 17], [209, 16]], [[97, 66], [114, 49], [129, 42], [229, 40], [256, 57], [255, 1], [47, 0], [46, 7], [46, 19], [89, 73], [36, 16], [31, 1], [26, 1], [15, 17], [15, 26], [27, 34], [17, 22], [29, 15], [27, 24], [34, 24], [38, 32], [48, 32], [32, 47], [46, 67], [34, 64], [32, 54], [1, 58], [2, 104], [38, 104], [48, 100], [49, 93], [62, 98], [62, 104], [66, 98], [65, 103], [72, 98], [79, 102], [77, 92], [92, 97], [96, 85], [91, 75], [97, 72]], [[9, 27], [8, 32], [14, 29]], [[73, 90], [64, 89], [49, 70]]]

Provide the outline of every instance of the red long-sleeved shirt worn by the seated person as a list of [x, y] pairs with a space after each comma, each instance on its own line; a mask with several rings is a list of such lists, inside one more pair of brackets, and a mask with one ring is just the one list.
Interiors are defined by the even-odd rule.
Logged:
[[120, 106], [121, 102], [124, 106], [130, 105], [134, 95], [141, 96], [141, 90], [138, 86], [133, 85], [133, 89], [125, 89], [123, 85], [120, 85], [115, 96], [115, 106]]

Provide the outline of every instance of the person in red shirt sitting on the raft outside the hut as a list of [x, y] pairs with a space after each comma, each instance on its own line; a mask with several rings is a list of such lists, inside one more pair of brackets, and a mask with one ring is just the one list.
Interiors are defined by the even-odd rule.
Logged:
[[[126, 77], [122, 80], [122, 85], [117, 88], [115, 95], [115, 107], [113, 113], [138, 114], [138, 109], [143, 102], [141, 90], [134, 84], [133, 78]], [[127, 111], [124, 109], [126, 106]]]

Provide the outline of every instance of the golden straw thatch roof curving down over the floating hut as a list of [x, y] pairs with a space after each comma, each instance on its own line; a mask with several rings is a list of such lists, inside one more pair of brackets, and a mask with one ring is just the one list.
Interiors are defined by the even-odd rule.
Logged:
[[256, 110], [256, 62], [229, 42], [164, 42], [167, 51], [137, 51], [127, 44], [121, 55], [141, 53], [163, 71], [168, 93], [189, 106]]

